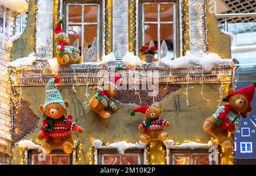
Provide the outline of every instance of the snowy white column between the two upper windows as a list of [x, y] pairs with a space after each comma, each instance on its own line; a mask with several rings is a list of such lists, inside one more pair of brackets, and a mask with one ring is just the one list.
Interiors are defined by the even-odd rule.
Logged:
[[113, 54], [117, 60], [128, 51], [128, 0], [113, 0]]

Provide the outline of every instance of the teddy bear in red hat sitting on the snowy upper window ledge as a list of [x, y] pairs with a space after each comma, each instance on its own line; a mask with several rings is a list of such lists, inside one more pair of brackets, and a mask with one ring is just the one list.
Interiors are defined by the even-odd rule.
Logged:
[[56, 36], [55, 40], [57, 42], [56, 52], [57, 52], [57, 63], [59, 65], [71, 65], [73, 63], [81, 64], [83, 62], [82, 57], [73, 58], [73, 52], [80, 54], [80, 50], [74, 46], [69, 46], [69, 38], [66, 33], [61, 29], [61, 23], [63, 19], [59, 20], [54, 30]]

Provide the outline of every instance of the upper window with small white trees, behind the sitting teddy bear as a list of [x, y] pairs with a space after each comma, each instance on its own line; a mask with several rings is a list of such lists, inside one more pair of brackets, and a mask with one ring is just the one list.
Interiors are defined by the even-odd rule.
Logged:
[[[67, 34], [69, 45], [77, 44], [81, 50], [84, 62], [99, 61], [100, 45], [100, 6], [97, 3], [68, 3], [67, 4]], [[96, 51], [86, 57], [89, 49]], [[89, 55], [89, 54], [88, 54]]]

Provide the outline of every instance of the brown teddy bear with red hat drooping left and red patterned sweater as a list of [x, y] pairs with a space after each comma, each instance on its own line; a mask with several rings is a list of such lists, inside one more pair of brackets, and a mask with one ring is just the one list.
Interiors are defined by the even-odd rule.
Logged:
[[150, 140], [166, 140], [168, 133], [163, 131], [164, 127], [169, 127], [170, 122], [165, 119], [159, 119], [162, 114], [162, 109], [157, 109], [154, 106], [141, 106], [131, 111], [131, 115], [134, 116], [135, 112], [144, 113], [146, 121], [143, 121], [139, 125], [139, 131], [143, 131], [143, 135], [139, 136], [139, 139], [143, 143], [148, 143]]

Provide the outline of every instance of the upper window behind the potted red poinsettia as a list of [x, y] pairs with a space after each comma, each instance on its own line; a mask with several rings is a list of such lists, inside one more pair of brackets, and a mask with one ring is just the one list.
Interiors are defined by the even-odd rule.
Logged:
[[164, 56], [174, 58], [175, 4], [173, 2], [145, 2], [142, 11], [142, 45], [156, 45], [160, 53], [155, 55], [158, 61]]

